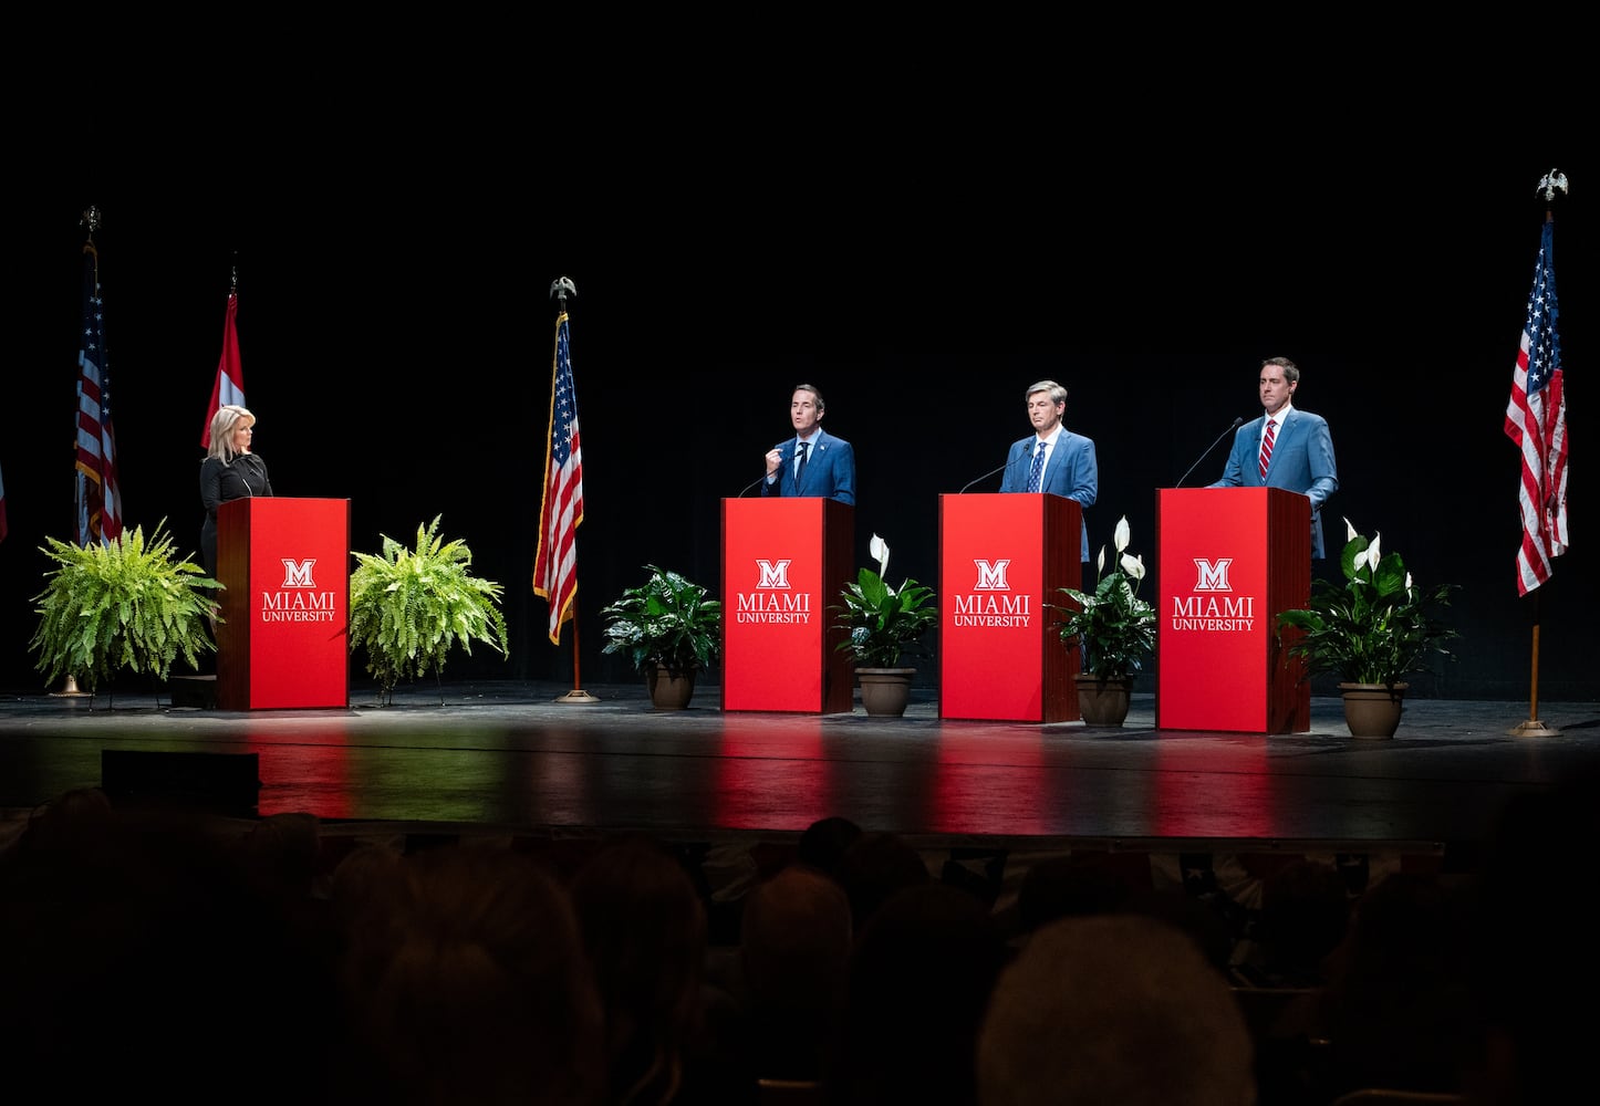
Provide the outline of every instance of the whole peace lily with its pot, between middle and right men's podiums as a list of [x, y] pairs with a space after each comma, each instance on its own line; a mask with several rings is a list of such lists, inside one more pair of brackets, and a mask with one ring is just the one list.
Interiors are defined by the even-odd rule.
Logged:
[[1122, 726], [1133, 702], [1133, 678], [1155, 652], [1155, 607], [1139, 598], [1144, 556], [1128, 553], [1128, 518], [1117, 521], [1117, 559], [1106, 571], [1101, 547], [1094, 591], [1061, 588], [1070, 604], [1046, 604], [1059, 617], [1061, 643], [1080, 650], [1078, 711], [1091, 726]]

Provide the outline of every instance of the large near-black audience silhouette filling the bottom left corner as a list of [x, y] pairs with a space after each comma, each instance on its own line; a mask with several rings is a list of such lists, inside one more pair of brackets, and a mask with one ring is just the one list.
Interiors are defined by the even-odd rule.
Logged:
[[322, 1101], [339, 1029], [328, 964], [286, 940], [235, 839], [93, 788], [35, 812], [0, 865], [14, 1098]]

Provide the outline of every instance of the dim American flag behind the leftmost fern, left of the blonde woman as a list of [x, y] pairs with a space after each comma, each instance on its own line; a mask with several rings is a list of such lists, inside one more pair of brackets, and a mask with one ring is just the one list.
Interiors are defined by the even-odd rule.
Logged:
[[117, 438], [110, 424], [110, 374], [106, 368], [106, 308], [99, 289], [99, 253], [83, 246], [83, 334], [78, 348], [77, 422], [78, 545], [122, 539], [122, 484]]

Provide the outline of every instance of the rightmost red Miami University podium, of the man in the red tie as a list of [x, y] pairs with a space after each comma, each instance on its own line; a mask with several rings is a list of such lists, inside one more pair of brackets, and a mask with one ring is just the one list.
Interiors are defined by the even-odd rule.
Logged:
[[1310, 500], [1282, 487], [1162, 489], [1155, 724], [1302, 734], [1304, 663], [1277, 614], [1310, 599]]

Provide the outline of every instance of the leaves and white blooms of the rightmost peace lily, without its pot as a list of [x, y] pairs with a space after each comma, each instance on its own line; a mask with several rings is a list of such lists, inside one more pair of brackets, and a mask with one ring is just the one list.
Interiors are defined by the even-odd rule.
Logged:
[[1280, 612], [1278, 628], [1299, 631], [1288, 650], [1306, 658], [1307, 674], [1392, 689], [1408, 673], [1427, 671], [1432, 654], [1451, 655], [1443, 643], [1458, 635], [1435, 612], [1450, 606], [1454, 585], [1416, 587], [1400, 555], [1382, 551], [1379, 534], [1368, 540], [1350, 519], [1344, 526], [1344, 585], [1314, 580], [1310, 606]]

